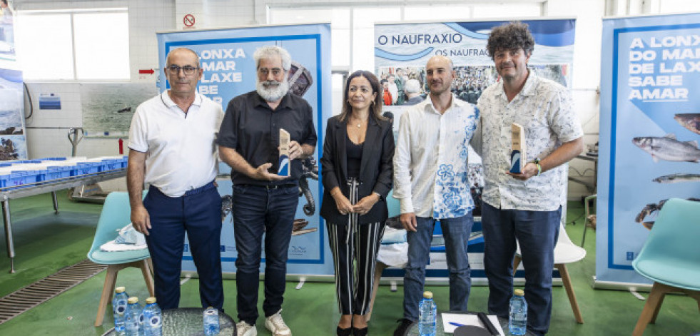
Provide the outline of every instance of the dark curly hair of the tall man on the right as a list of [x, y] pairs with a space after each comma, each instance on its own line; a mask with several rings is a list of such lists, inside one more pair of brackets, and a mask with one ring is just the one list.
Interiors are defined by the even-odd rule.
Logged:
[[517, 50], [522, 49], [527, 56], [532, 55], [534, 50], [534, 39], [530, 34], [527, 24], [520, 21], [502, 24], [491, 30], [486, 50], [491, 59], [494, 58], [497, 50]]

